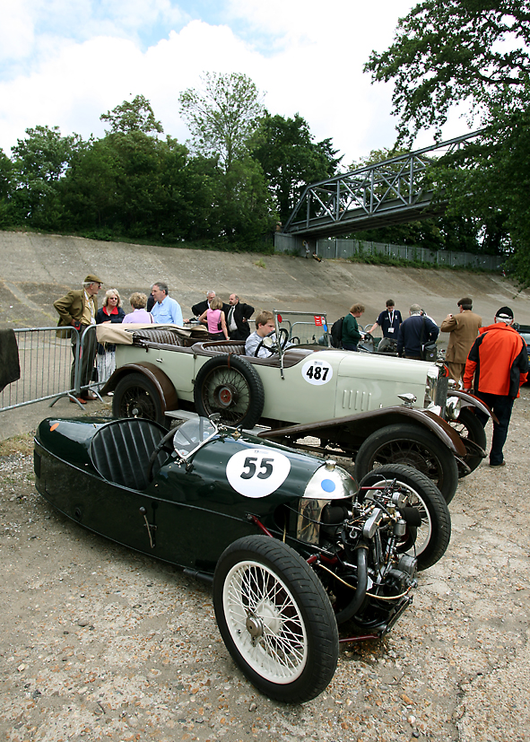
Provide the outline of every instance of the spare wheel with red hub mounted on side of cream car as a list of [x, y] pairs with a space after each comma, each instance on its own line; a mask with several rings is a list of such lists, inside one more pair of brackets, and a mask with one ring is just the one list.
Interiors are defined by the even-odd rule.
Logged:
[[197, 373], [194, 401], [199, 415], [219, 413], [223, 423], [253, 428], [263, 413], [265, 391], [248, 361], [238, 355], [219, 355]]

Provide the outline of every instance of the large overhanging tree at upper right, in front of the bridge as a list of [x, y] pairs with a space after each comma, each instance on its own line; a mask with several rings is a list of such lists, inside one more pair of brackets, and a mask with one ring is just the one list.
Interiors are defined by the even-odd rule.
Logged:
[[448, 214], [478, 219], [490, 249], [513, 253], [517, 278], [529, 285], [530, 0], [424, 0], [365, 69], [374, 82], [395, 83], [399, 141], [432, 126], [439, 135], [453, 104], [470, 106], [482, 137], [431, 175]]

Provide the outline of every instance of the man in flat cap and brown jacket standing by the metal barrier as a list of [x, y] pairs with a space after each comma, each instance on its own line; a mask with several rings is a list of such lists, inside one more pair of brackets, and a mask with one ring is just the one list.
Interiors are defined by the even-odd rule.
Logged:
[[[77, 334], [72, 333], [72, 373], [70, 376], [70, 388], [74, 388], [74, 371], [76, 354], [79, 352], [81, 361], [80, 386], [85, 387], [91, 383], [92, 369], [96, 355], [96, 333], [95, 330], [87, 332], [87, 327], [96, 324], [96, 312], [98, 311], [97, 295], [101, 288], [101, 279], [97, 275], [89, 274], [83, 281], [83, 288], [69, 291], [62, 299], [54, 301], [54, 307], [59, 314], [59, 327], [75, 327], [80, 336], [80, 344], [77, 345]], [[78, 401], [83, 405], [87, 400], [97, 398], [89, 389], [81, 390]], [[72, 402], [75, 400], [72, 399]]]

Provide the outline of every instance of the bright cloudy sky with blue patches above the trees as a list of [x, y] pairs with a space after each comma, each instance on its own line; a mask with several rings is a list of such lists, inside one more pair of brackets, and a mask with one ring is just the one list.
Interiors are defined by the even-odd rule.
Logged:
[[[331, 137], [343, 165], [395, 142], [392, 86], [362, 67], [410, 0], [0, 0], [0, 148], [27, 128], [104, 135], [100, 114], [143, 94], [185, 143], [178, 95], [204, 72], [243, 73], [272, 114]], [[450, 118], [444, 138], [465, 134]], [[417, 146], [433, 142], [421, 135]]]

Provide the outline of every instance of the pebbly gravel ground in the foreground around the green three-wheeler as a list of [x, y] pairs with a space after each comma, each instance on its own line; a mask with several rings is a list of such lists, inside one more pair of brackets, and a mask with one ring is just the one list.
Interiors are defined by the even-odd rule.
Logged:
[[30, 446], [8, 441], [0, 738], [530, 739], [529, 410], [525, 388], [508, 466], [461, 481], [447, 554], [393, 633], [343, 647], [326, 692], [297, 706], [267, 700], [232, 663], [208, 586], [57, 514], [34, 489]]

